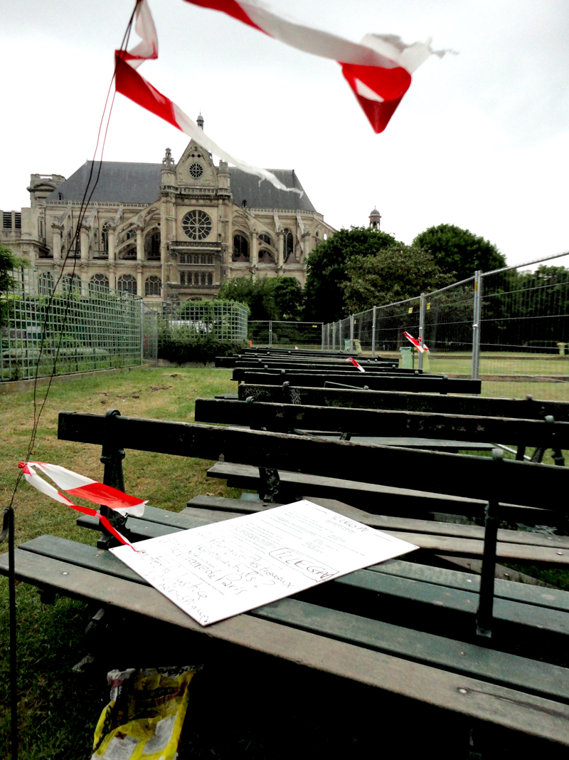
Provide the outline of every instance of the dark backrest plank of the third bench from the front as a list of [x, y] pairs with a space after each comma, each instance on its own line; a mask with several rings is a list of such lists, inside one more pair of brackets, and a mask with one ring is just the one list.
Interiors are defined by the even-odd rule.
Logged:
[[552, 415], [556, 421], [569, 422], [569, 401], [407, 394], [402, 391], [351, 391], [347, 388], [301, 388], [292, 385], [283, 391], [274, 385], [247, 383], [239, 385], [237, 391], [240, 401], [253, 397], [258, 401], [290, 403], [293, 394], [295, 404], [321, 407], [519, 417], [524, 420], [542, 420], [546, 415]]

